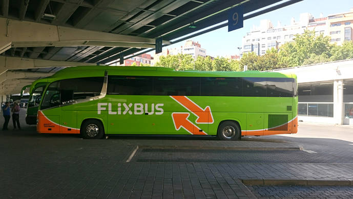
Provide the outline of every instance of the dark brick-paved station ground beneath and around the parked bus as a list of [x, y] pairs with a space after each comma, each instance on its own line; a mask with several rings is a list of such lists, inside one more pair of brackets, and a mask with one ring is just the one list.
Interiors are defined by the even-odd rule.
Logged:
[[0, 198], [297, 198], [308, 188], [316, 192], [307, 197], [353, 197], [350, 141], [278, 135], [237, 142], [195, 136], [84, 140], [38, 134], [24, 115], [23, 109], [22, 130], [10, 121], [9, 130], [0, 131]]

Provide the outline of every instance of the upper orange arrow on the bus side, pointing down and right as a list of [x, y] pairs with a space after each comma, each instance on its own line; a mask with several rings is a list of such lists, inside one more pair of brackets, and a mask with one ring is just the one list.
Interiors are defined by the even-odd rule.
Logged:
[[191, 99], [186, 96], [171, 96], [175, 101], [177, 101], [181, 106], [188, 109], [194, 115], [197, 116], [197, 124], [212, 124], [213, 116], [211, 113], [211, 108], [207, 106], [205, 109], [202, 109], [197, 104], [195, 104]]

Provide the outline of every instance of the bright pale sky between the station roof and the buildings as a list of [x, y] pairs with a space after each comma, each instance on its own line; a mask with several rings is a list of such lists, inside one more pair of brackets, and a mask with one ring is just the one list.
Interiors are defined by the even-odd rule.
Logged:
[[[206, 49], [207, 55], [214, 57], [235, 55], [239, 54], [238, 47], [241, 47], [242, 37], [251, 31], [253, 25], [259, 26], [262, 19], [271, 20], [276, 27], [278, 21], [281, 22], [282, 26], [289, 25], [292, 17], [295, 18], [295, 21], [299, 21], [300, 13], [308, 12], [318, 18], [320, 13], [325, 17], [330, 14], [348, 12], [350, 8], [353, 8], [353, 0], [303, 0], [302, 2], [247, 19], [241, 29], [228, 32], [228, 28], [224, 27], [190, 39], [199, 42], [201, 48]], [[163, 48], [178, 48], [183, 46], [184, 43], [185, 41]]]

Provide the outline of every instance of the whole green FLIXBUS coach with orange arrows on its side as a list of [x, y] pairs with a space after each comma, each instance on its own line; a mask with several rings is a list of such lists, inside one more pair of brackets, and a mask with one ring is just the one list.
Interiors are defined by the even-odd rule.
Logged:
[[298, 127], [294, 74], [79, 66], [33, 84], [45, 85], [37, 102], [39, 133], [240, 140], [243, 135], [296, 133]]

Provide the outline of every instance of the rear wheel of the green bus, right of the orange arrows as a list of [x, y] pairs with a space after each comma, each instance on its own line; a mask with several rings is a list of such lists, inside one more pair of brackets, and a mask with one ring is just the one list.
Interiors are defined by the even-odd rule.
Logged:
[[218, 126], [217, 136], [219, 140], [224, 141], [237, 141], [240, 140], [241, 131], [237, 123], [233, 121], [222, 122]]

